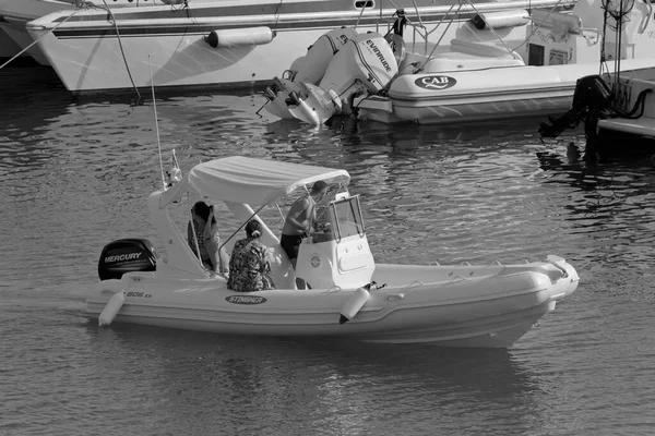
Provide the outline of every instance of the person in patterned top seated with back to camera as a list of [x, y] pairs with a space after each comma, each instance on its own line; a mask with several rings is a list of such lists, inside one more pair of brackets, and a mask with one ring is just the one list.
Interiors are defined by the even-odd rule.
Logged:
[[269, 251], [261, 242], [262, 227], [257, 219], [246, 225], [248, 238], [235, 243], [229, 259], [227, 289], [235, 292], [253, 292], [275, 289], [271, 279]]

